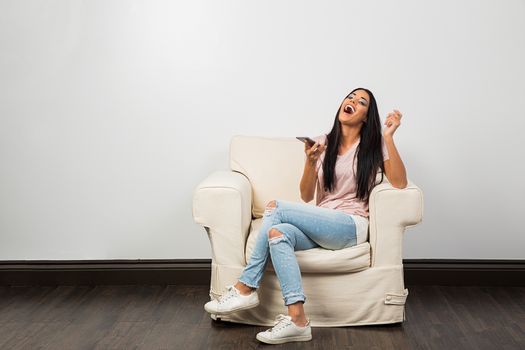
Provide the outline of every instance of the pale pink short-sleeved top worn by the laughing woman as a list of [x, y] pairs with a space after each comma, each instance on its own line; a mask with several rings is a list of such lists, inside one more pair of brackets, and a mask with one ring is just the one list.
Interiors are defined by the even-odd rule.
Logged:
[[[326, 135], [316, 136], [313, 139], [320, 144], [326, 144]], [[360, 215], [368, 218], [368, 204], [358, 200], [357, 194], [357, 156], [352, 167], [354, 156], [356, 155], [357, 145], [361, 138], [346, 151], [343, 155], [337, 156], [335, 163], [335, 186], [332, 192], [325, 192], [323, 189], [323, 167], [325, 152], [317, 160], [317, 194], [316, 205], [319, 207], [342, 210], [348, 214]], [[383, 149], [383, 160], [389, 159], [385, 140], [381, 138]], [[350, 169], [353, 168], [353, 172]], [[355, 174], [355, 176], [354, 176]]]

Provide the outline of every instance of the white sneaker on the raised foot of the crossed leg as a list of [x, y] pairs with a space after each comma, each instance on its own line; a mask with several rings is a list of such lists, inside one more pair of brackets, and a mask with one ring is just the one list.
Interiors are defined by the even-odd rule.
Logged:
[[242, 295], [233, 285], [227, 286], [226, 289], [228, 291], [219, 300], [208, 301], [204, 305], [207, 312], [216, 315], [229, 315], [259, 305], [259, 296], [255, 290], [250, 295]]

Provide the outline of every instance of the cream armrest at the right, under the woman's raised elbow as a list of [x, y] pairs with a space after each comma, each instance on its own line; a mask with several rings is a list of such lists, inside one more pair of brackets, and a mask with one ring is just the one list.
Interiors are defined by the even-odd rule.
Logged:
[[423, 192], [410, 180], [395, 188], [383, 182], [369, 200], [371, 266], [403, 263], [403, 233], [423, 219]]

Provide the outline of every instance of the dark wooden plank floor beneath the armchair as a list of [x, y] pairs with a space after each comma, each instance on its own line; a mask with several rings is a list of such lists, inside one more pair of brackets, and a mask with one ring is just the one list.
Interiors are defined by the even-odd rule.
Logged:
[[[525, 287], [408, 286], [403, 324], [313, 328], [274, 349], [525, 349]], [[1, 349], [256, 349], [206, 286], [0, 287]]]

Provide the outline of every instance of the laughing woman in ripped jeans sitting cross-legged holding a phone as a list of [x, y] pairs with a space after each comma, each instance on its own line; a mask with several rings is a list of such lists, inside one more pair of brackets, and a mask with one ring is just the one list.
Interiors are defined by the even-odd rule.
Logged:
[[354, 89], [337, 110], [328, 135], [305, 144], [306, 162], [300, 183], [301, 198], [310, 202], [317, 188], [316, 205], [274, 200], [268, 203], [255, 248], [238, 282], [228, 286], [206, 311], [225, 315], [259, 304], [256, 289], [272, 259], [288, 315], [278, 315], [275, 326], [257, 334], [269, 344], [312, 339], [301, 272], [294, 251], [315, 247], [342, 249], [361, 244], [368, 234], [368, 199], [381, 170], [396, 188], [408, 184], [405, 167], [393, 135], [401, 113], [389, 113], [383, 133], [372, 92]]

